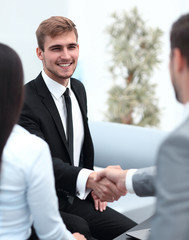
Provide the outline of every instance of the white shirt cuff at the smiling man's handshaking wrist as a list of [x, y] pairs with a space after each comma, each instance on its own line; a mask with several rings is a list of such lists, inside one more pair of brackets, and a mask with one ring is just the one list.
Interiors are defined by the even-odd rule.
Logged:
[[86, 189], [86, 183], [89, 175], [92, 173], [92, 170], [83, 168], [78, 174], [77, 183], [76, 183], [76, 196], [81, 200], [84, 200], [88, 194], [91, 192], [90, 189]]

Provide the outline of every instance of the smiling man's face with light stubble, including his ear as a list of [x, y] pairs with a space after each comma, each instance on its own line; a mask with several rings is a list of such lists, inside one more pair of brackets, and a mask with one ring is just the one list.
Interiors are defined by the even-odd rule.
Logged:
[[79, 45], [74, 32], [56, 37], [45, 37], [44, 51], [37, 48], [37, 56], [43, 62], [45, 73], [56, 82], [67, 85], [73, 75], [79, 56]]

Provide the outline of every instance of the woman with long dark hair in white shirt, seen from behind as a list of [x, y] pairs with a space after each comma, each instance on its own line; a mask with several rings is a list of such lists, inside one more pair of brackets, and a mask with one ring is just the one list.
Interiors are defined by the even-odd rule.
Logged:
[[22, 99], [21, 60], [0, 44], [0, 239], [28, 239], [33, 224], [39, 239], [84, 240], [59, 215], [48, 145], [16, 124]]

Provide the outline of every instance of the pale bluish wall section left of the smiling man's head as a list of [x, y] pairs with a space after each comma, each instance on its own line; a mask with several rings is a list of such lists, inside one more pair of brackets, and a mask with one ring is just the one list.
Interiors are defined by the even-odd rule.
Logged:
[[41, 62], [35, 54], [35, 31], [41, 21], [68, 12], [67, 0], [6, 0], [0, 7], [0, 42], [13, 47], [20, 55], [25, 81], [36, 77]]

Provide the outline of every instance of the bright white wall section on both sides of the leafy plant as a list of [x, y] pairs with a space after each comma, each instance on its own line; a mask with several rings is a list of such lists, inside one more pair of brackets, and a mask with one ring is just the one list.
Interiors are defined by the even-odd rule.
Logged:
[[[152, 81], [156, 82], [157, 97], [162, 109], [161, 129], [172, 130], [181, 120], [182, 107], [175, 101], [169, 79], [169, 30], [173, 21], [185, 13], [188, 5], [185, 0], [72, 0], [70, 14], [80, 29], [80, 53], [85, 68], [85, 85], [88, 90], [89, 117], [103, 119], [106, 109], [106, 92], [112, 84], [107, 70], [110, 56], [107, 53], [108, 36], [105, 28], [110, 24], [110, 14], [137, 6], [147, 24], [163, 30], [162, 63], [156, 69]], [[184, 6], [185, 4], [185, 6]], [[75, 6], [75, 7], [73, 7]], [[80, 7], [82, 6], [82, 7]]]

